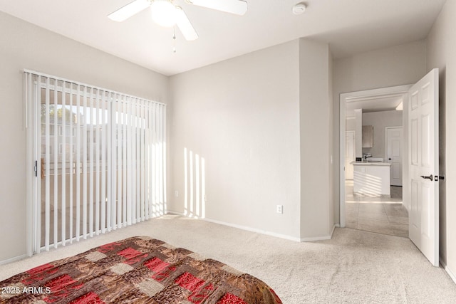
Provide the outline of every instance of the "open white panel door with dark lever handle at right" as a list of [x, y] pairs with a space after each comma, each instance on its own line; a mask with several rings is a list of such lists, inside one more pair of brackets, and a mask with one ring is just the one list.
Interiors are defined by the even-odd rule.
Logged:
[[410, 240], [439, 266], [438, 69], [409, 90]]

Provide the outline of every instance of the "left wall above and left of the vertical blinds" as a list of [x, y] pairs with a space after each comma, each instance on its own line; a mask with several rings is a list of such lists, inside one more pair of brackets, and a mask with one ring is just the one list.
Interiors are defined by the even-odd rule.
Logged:
[[0, 12], [0, 261], [26, 253], [24, 68], [167, 103], [169, 80]]

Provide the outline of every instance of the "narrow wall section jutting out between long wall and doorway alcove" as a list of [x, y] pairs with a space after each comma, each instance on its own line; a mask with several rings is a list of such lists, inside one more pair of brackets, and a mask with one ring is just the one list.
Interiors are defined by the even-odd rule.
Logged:
[[[331, 53], [327, 44], [299, 41], [301, 239], [333, 229]], [[331, 206], [330, 206], [331, 205]]]

